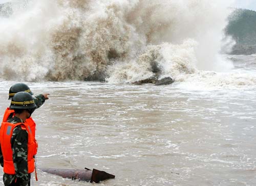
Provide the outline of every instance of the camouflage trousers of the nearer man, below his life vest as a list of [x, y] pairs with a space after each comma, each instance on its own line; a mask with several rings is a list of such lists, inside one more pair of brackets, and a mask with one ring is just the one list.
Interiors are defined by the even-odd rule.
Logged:
[[3, 180], [5, 186], [28, 186], [29, 175], [26, 177], [28, 179], [17, 179], [15, 175], [4, 173]]

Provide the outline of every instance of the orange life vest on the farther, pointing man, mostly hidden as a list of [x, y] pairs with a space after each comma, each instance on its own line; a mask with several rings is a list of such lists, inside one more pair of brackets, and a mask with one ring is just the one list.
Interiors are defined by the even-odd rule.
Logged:
[[[6, 110], [5, 110], [5, 114], [4, 114], [4, 118], [3, 118], [3, 122], [7, 122], [7, 120], [8, 120], [8, 118], [9, 118], [9, 116], [10, 115], [15, 115], [15, 112], [14, 112], [14, 110], [10, 110], [10, 108], [8, 107]], [[28, 119], [26, 119], [26, 121], [25, 121], [25, 123], [27, 123], [29, 126], [30, 126], [30, 129], [31, 129], [31, 131], [32, 131], [32, 134], [33, 134], [33, 141], [34, 141], [34, 143], [35, 143], [35, 146], [36, 146], [36, 149], [35, 149], [35, 154], [34, 155], [36, 155], [36, 153], [37, 153], [37, 148], [38, 148], [38, 144], [37, 144], [37, 141], [36, 141], [36, 139], [35, 139], [35, 130], [36, 130], [36, 124], [35, 124], [35, 122], [34, 122], [34, 120], [30, 117], [30, 118], [28, 118]]]

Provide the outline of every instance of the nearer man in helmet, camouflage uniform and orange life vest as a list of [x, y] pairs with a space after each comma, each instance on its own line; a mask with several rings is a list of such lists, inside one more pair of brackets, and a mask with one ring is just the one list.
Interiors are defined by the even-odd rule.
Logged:
[[[26, 102], [26, 103], [25, 103]], [[10, 117], [7, 122], [3, 122], [0, 129], [0, 140], [1, 140], [1, 149], [3, 148], [3, 154], [5, 161], [8, 162], [4, 164], [4, 184], [5, 186], [27, 186], [30, 185], [29, 173], [34, 171], [34, 159], [31, 154], [33, 154], [33, 147], [29, 147], [29, 139], [33, 140], [32, 131], [29, 131], [29, 125], [25, 123], [25, 120], [30, 118], [31, 114], [36, 109], [34, 104], [33, 97], [26, 92], [18, 92], [15, 94], [11, 101], [10, 108], [14, 109], [15, 116]], [[15, 124], [17, 124], [15, 126]], [[10, 145], [8, 143], [8, 137], [10, 133], [10, 128], [12, 129], [12, 136], [10, 140]], [[8, 134], [9, 132], [9, 134]], [[7, 141], [6, 141], [7, 140]], [[11, 146], [12, 154], [8, 148]], [[32, 149], [32, 150], [31, 150]], [[10, 164], [10, 156], [12, 156], [12, 163]], [[30, 160], [28, 160], [30, 157]], [[32, 162], [29, 164], [28, 162]], [[14, 174], [9, 174], [6, 172], [13, 172]]]

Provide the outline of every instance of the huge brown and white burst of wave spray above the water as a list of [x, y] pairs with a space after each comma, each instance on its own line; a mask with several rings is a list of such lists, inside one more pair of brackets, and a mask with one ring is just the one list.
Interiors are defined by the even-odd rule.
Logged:
[[[227, 71], [219, 55], [232, 1], [25, 1], [0, 20], [0, 67], [20, 81], [131, 83]], [[9, 5], [8, 5], [9, 6]], [[182, 76], [182, 77], [181, 77]]]

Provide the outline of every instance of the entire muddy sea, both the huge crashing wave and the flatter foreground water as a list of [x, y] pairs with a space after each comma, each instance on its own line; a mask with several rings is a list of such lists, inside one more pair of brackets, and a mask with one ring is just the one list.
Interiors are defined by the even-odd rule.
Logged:
[[[102, 185], [255, 185], [256, 57], [219, 55], [233, 2], [5, 4], [0, 112], [16, 81], [51, 94], [33, 113], [38, 168], [116, 175]], [[176, 83], [126, 84], [154, 75]], [[38, 177], [33, 185], [92, 185]]]

